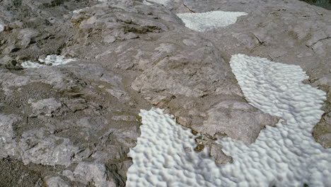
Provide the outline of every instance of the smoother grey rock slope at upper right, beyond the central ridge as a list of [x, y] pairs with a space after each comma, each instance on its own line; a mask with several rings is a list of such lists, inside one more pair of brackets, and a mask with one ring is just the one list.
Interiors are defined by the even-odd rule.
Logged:
[[305, 83], [327, 92], [325, 114], [313, 135], [323, 147], [330, 148], [330, 11], [302, 1], [208, 1], [200, 4], [185, 0], [182, 3], [196, 12], [247, 12], [248, 16], [240, 17], [237, 24], [202, 35], [222, 50], [226, 62], [230, 55], [244, 53], [301, 66], [310, 77]]

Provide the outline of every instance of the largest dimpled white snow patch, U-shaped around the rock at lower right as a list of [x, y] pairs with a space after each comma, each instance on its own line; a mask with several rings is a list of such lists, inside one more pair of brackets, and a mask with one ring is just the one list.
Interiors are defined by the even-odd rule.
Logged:
[[301, 81], [308, 76], [296, 65], [260, 57], [234, 55], [231, 68], [248, 102], [286, 120], [267, 126], [252, 145], [218, 140], [233, 164], [216, 166], [214, 159], [193, 149], [192, 132], [173, 116], [152, 108], [141, 111], [141, 137], [130, 149], [134, 164], [127, 186], [330, 186], [331, 149], [313, 140], [325, 93]]

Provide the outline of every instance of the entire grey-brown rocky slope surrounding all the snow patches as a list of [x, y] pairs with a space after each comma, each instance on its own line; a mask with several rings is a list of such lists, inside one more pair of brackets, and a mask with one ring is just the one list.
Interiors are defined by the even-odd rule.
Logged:
[[[248, 16], [198, 33], [175, 14], [214, 10]], [[296, 0], [0, 1], [0, 186], [124, 186], [151, 106], [231, 161], [211, 140], [251, 143], [277, 122], [245, 101], [228, 65], [239, 52], [298, 64], [328, 93], [313, 135], [331, 147], [330, 18]], [[21, 66], [47, 55], [76, 61]]]

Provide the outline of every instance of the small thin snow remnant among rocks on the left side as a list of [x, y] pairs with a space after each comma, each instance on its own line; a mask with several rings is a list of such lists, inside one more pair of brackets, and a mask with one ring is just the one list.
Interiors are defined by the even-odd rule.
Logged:
[[40, 63], [25, 61], [21, 64], [23, 68], [40, 68], [50, 66], [59, 66], [61, 64], [67, 64], [69, 62], [75, 61], [76, 59], [65, 59], [63, 56], [59, 55], [48, 55], [45, 60], [39, 59]]

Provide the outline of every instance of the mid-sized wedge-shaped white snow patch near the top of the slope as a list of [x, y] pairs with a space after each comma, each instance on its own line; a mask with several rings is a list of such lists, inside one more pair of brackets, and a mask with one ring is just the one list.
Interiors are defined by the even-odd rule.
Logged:
[[226, 27], [236, 23], [239, 16], [245, 12], [209, 11], [204, 13], [178, 13], [187, 28], [204, 32], [213, 28]]

